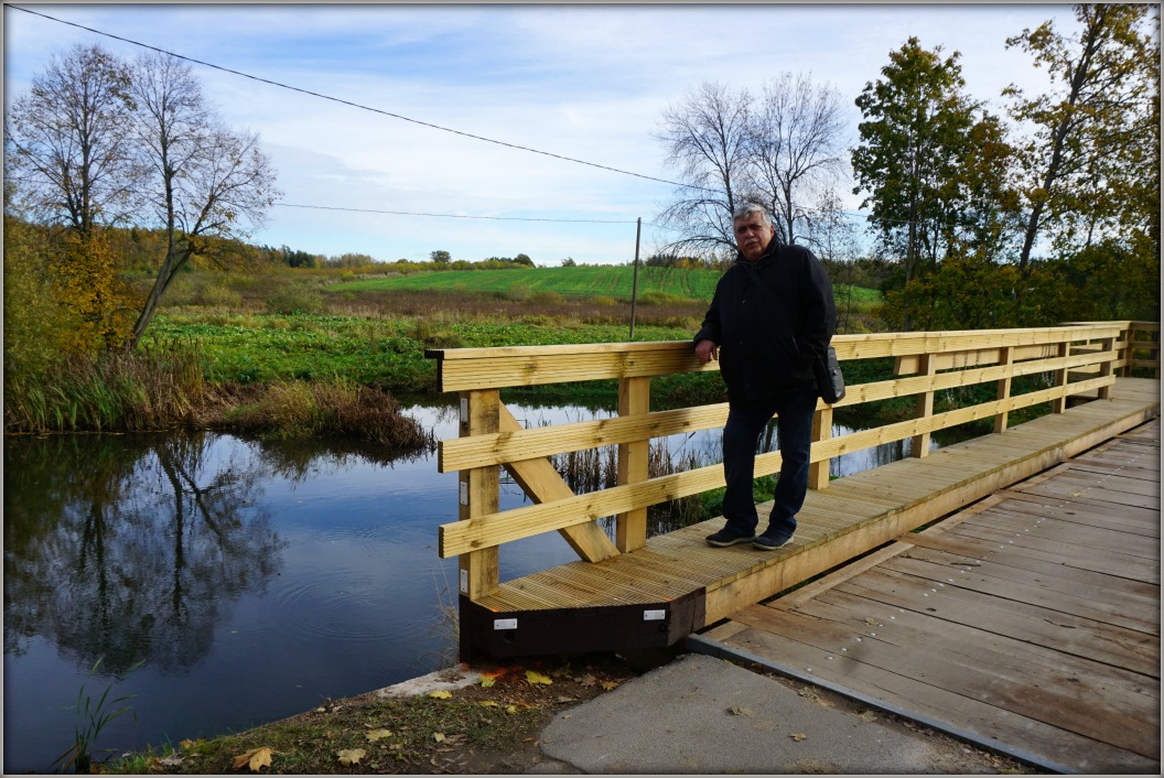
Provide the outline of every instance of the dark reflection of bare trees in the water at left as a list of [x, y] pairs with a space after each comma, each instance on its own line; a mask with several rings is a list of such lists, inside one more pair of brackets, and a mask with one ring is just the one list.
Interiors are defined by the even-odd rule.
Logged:
[[[210, 434], [5, 447], [5, 651], [42, 636], [79, 665], [187, 669], [220, 608], [262, 592], [284, 543], [256, 501], [262, 458]], [[84, 462], [83, 467], [71, 463]]]

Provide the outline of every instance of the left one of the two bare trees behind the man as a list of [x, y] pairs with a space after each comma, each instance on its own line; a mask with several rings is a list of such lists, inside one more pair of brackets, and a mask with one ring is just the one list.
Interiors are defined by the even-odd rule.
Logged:
[[732, 93], [721, 84], [703, 83], [663, 112], [655, 137], [686, 185], [658, 217], [683, 235], [667, 251], [734, 251], [731, 220], [746, 199], [741, 190], [751, 102], [746, 90]]

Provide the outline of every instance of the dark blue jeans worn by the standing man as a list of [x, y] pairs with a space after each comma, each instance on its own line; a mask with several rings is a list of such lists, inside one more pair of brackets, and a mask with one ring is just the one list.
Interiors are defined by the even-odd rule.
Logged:
[[773, 495], [775, 506], [768, 516], [768, 528], [775, 533], [793, 533], [796, 513], [808, 492], [808, 465], [812, 445], [812, 414], [816, 388], [782, 392], [772, 398], [733, 402], [724, 426], [724, 494], [726, 526], [752, 534], [759, 524], [752, 481], [755, 478], [755, 448], [760, 433], [773, 414], [780, 445], [780, 478]]

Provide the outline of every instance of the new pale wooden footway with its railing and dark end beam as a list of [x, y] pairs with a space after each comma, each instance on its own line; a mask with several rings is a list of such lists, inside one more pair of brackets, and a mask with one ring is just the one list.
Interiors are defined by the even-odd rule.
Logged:
[[[811, 490], [799, 514], [800, 529], [774, 552], [746, 544], [708, 547], [704, 536], [722, 520], [647, 537], [648, 506], [724, 484], [719, 464], [667, 476], [648, 472], [652, 440], [719, 428], [726, 419], [726, 404], [651, 411], [652, 378], [718, 369], [714, 362], [700, 364], [689, 342], [430, 351], [438, 361], [440, 390], [459, 392], [461, 404], [461, 436], [442, 441], [439, 449], [440, 471], [460, 473], [460, 518], [440, 528], [439, 552], [460, 559], [462, 657], [668, 647], [864, 555], [893, 548], [888, 544], [900, 544], [903, 536], [920, 538], [911, 533], [1157, 417], [1158, 341], [1158, 323], [1128, 321], [833, 338], [843, 364], [892, 358], [895, 365], [889, 380], [851, 384], [835, 407], [914, 397], [916, 413], [832, 437], [833, 406], [819, 404]], [[1155, 378], [1131, 377], [1134, 367]], [[525, 429], [501, 401], [506, 387], [596, 379], [618, 381], [617, 416]], [[979, 387], [981, 398], [982, 386], [991, 399], [935, 412], [936, 394], [968, 397]], [[1049, 412], [1021, 424], [1009, 422], [1009, 414], [1030, 407]], [[993, 419], [992, 434], [929, 450], [932, 433], [984, 419]], [[831, 458], [906, 438], [913, 440], [914, 458], [830, 481]], [[611, 445], [617, 447], [618, 466], [618, 485], [611, 488], [575, 494], [549, 462], [555, 454]], [[757, 458], [758, 477], [779, 467], [779, 452]], [[502, 469], [533, 505], [498, 509]], [[1149, 570], [1142, 583], [1151, 591], [1137, 588], [1140, 599], [1131, 600], [1143, 605], [1155, 595], [1150, 609], [1158, 612], [1158, 502], [1155, 509], [1155, 524], [1149, 519], [1151, 530], [1141, 537], [1156, 557], [1137, 562]], [[764, 515], [764, 506], [760, 511]], [[599, 522], [610, 516], [612, 535]], [[1025, 513], [1008, 509], [992, 521], [988, 531], [1006, 534], [1008, 522], [1025, 521]], [[498, 547], [545, 531], [560, 533], [580, 559], [502, 580]], [[1072, 542], [1084, 545], [1074, 554], [1087, 557], [1092, 551], [1084, 537]], [[1093, 551], [1102, 556], [1102, 549]], [[1079, 586], [1079, 597], [1091, 593], [1086, 577], [1063, 585]], [[1119, 600], [1119, 607], [1129, 601]], [[1158, 659], [1158, 619], [1155, 623]], [[1158, 702], [1158, 672], [1155, 684]]]

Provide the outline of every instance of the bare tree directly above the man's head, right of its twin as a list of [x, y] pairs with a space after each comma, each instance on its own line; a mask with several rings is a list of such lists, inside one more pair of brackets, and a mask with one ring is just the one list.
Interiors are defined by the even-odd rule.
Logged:
[[840, 94], [804, 73], [765, 85], [751, 114], [747, 171], [752, 197], [769, 209], [782, 243], [814, 240], [819, 212], [808, 207], [832, 192], [844, 173]]

